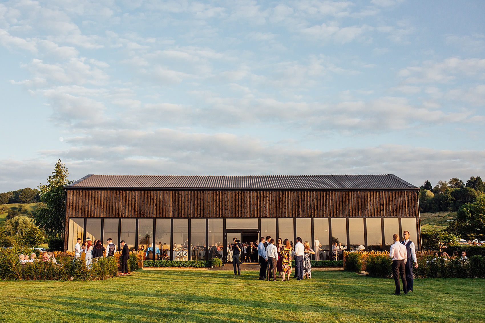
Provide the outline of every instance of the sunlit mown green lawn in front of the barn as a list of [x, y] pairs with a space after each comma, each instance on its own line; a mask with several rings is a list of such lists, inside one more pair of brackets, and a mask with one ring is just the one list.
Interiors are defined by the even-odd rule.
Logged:
[[257, 280], [257, 272], [138, 271], [95, 282], [0, 282], [0, 322], [485, 322], [485, 279], [394, 281], [342, 271]]

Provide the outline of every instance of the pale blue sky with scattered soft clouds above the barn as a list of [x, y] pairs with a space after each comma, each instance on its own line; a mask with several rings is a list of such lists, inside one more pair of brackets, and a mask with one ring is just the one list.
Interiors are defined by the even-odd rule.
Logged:
[[0, 192], [107, 175], [485, 176], [485, 1], [0, 2]]

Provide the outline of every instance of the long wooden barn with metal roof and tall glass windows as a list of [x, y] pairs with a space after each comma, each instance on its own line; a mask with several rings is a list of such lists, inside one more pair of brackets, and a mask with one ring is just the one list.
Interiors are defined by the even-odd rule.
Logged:
[[300, 236], [330, 259], [333, 242], [384, 250], [404, 230], [421, 245], [419, 188], [392, 174], [87, 175], [65, 191], [69, 251], [112, 238], [148, 259], [226, 259], [233, 238]]

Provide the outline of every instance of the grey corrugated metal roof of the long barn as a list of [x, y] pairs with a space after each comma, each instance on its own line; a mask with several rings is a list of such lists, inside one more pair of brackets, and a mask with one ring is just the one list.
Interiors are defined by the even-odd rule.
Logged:
[[160, 189], [397, 189], [413, 190], [392, 174], [386, 175], [87, 175], [66, 188]]

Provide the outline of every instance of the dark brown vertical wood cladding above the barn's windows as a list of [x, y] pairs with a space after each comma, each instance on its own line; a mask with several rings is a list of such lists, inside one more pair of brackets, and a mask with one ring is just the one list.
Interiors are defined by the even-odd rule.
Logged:
[[67, 190], [67, 217], [418, 216], [414, 191]]

